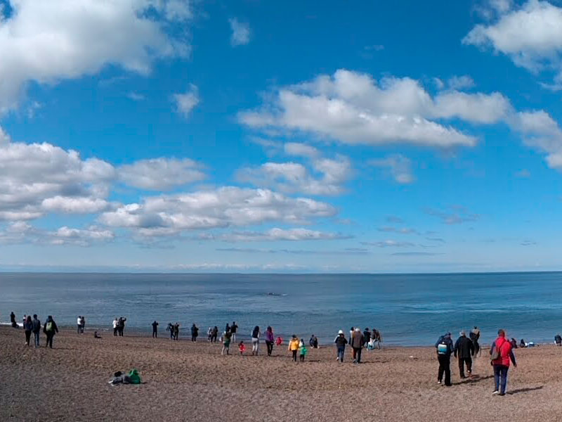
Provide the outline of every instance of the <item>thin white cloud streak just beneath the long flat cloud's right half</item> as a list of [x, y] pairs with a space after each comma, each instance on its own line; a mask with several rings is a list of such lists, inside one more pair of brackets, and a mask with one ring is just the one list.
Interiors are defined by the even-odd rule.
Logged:
[[229, 242], [250, 241], [327, 241], [334, 239], [349, 238], [339, 233], [328, 233], [309, 229], [270, 229], [266, 232], [258, 231], [235, 231], [223, 236], [223, 240]]

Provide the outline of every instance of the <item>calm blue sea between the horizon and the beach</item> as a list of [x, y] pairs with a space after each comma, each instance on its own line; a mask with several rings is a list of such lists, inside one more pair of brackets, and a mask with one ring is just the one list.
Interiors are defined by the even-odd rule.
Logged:
[[312, 333], [331, 342], [341, 328], [376, 327], [393, 345], [430, 345], [438, 335], [481, 328], [483, 342], [506, 328], [518, 340], [551, 342], [562, 332], [562, 273], [285, 275], [285, 274], [0, 274], [0, 321], [15, 312], [52, 314], [59, 325], [127, 327], [161, 335], [179, 321], [240, 333], [273, 326], [284, 337]]

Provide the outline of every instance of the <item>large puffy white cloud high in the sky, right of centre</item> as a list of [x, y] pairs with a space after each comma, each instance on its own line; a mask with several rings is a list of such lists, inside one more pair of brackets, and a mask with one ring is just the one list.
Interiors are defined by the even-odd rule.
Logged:
[[[263, 108], [240, 113], [240, 122], [258, 129], [316, 134], [342, 143], [474, 146], [476, 138], [437, 119], [488, 124], [510, 109], [499, 93], [443, 91], [435, 97], [410, 78], [338, 70], [312, 82], [279, 89]], [[476, 109], [476, 110], [475, 110]]]

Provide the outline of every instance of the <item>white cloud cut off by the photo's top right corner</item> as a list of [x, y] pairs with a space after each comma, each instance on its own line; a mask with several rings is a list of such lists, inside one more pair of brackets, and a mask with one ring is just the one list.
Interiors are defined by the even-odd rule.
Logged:
[[548, 1], [529, 0], [520, 8], [509, 1], [495, 1], [499, 18], [490, 25], [476, 25], [464, 44], [492, 47], [518, 66], [540, 71], [562, 71], [562, 8]]

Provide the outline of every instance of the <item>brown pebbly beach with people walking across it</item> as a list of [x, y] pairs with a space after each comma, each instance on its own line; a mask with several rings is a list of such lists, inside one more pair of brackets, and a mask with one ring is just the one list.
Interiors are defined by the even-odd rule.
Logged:
[[[164, 334], [164, 333], [162, 333]], [[44, 345], [44, 335], [41, 334]], [[265, 346], [265, 345], [263, 345]], [[265, 352], [265, 347], [262, 347]], [[21, 330], [0, 327], [1, 421], [440, 421], [466, 417], [559, 421], [562, 348], [516, 350], [509, 394], [491, 395], [483, 356], [463, 380], [452, 360], [451, 388], [436, 384], [431, 348], [363, 351], [365, 363], [335, 360], [334, 347], [291, 362], [287, 346], [273, 357], [221, 357], [220, 345], [172, 342], [165, 335], [115, 338], [61, 331], [53, 350], [27, 347]], [[137, 368], [143, 385], [107, 381]]]

